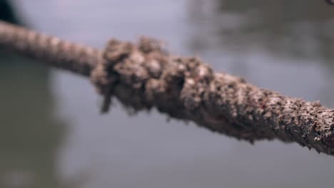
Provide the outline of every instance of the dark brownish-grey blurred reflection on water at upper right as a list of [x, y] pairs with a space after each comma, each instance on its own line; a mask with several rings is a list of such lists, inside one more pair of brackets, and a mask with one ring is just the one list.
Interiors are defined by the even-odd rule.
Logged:
[[274, 56], [314, 58], [333, 67], [334, 6], [313, 0], [189, 1], [196, 51], [260, 48]]

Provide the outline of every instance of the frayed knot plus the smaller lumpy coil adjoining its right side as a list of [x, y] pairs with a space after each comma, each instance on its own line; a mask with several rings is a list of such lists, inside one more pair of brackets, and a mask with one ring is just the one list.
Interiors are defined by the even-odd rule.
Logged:
[[154, 96], [163, 95], [196, 110], [213, 80], [213, 71], [199, 58], [168, 56], [161, 42], [152, 38], [143, 37], [137, 44], [111, 39], [91, 80], [104, 97], [102, 113], [108, 111], [113, 94], [133, 100], [136, 109], [159, 103]]

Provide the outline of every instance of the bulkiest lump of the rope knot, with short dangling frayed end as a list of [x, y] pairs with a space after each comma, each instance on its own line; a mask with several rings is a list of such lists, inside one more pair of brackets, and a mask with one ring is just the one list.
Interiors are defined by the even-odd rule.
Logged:
[[152, 38], [142, 37], [138, 44], [114, 38], [108, 41], [100, 62], [91, 71], [91, 81], [104, 98], [101, 112], [108, 111], [116, 85], [142, 90], [148, 78], [160, 78], [165, 55], [161, 43]]

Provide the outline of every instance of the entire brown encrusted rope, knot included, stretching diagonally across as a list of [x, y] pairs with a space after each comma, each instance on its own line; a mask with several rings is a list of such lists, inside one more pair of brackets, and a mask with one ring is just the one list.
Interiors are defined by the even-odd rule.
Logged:
[[105, 98], [103, 112], [116, 97], [133, 112], [156, 108], [241, 140], [278, 138], [334, 155], [334, 111], [318, 102], [214, 73], [199, 58], [171, 56], [149, 38], [136, 44], [111, 39], [102, 52], [53, 38], [0, 22], [0, 48], [90, 75]]

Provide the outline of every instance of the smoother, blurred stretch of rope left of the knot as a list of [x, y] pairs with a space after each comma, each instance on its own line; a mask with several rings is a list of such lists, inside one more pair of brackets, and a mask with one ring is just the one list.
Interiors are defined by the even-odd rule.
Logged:
[[15, 51], [49, 66], [90, 75], [101, 51], [0, 21], [0, 50]]

